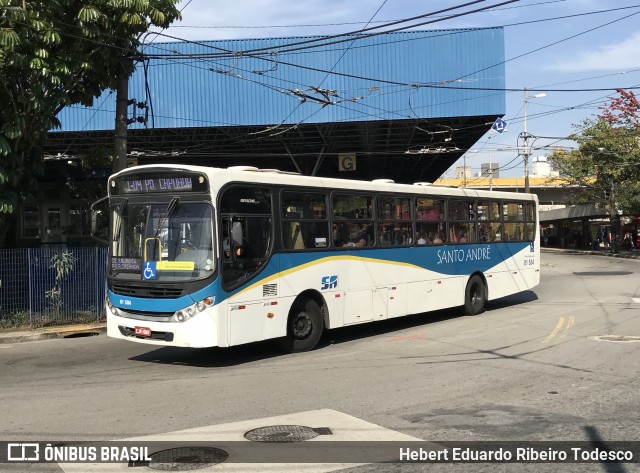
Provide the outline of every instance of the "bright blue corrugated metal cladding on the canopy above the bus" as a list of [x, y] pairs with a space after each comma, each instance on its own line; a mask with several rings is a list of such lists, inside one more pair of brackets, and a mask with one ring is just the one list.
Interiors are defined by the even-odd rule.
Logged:
[[[351, 36], [346, 42], [292, 52], [224, 54], [282, 49], [310, 39], [317, 37], [153, 43], [144, 48], [145, 54], [172, 57], [149, 60], [146, 83], [144, 68], [138, 64], [129, 97], [151, 105], [147, 127], [155, 128], [505, 113], [502, 28]], [[194, 56], [179, 57], [184, 54]], [[314, 88], [335, 95], [323, 96]], [[320, 103], [327, 99], [333, 104]], [[113, 129], [115, 93], [103, 93], [93, 107], [67, 107], [58, 118], [62, 131]]]

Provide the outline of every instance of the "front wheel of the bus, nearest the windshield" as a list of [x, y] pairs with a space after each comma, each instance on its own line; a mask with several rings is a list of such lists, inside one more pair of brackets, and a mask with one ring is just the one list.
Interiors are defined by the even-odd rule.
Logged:
[[320, 306], [313, 299], [302, 299], [291, 307], [287, 321], [285, 349], [289, 353], [312, 350], [324, 331]]

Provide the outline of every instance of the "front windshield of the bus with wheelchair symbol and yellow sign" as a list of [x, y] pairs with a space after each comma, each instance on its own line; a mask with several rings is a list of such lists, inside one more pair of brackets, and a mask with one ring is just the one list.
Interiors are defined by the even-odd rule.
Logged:
[[215, 270], [213, 209], [207, 203], [130, 203], [111, 208], [109, 273], [119, 279], [188, 281]]

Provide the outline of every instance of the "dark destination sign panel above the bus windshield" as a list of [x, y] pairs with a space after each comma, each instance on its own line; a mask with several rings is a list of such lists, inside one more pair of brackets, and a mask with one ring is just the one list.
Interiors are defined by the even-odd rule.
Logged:
[[112, 194], [146, 194], [160, 192], [205, 192], [206, 179], [203, 175], [126, 176], [111, 182]]

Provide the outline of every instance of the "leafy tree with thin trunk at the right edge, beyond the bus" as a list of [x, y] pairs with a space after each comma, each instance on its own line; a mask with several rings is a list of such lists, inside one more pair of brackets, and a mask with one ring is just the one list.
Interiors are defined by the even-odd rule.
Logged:
[[581, 189], [580, 201], [604, 205], [616, 236], [620, 212], [640, 214], [640, 102], [633, 92], [618, 93], [577, 127], [577, 150], [552, 156], [570, 185]]

